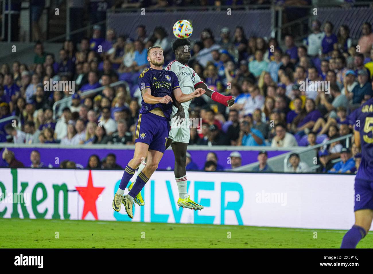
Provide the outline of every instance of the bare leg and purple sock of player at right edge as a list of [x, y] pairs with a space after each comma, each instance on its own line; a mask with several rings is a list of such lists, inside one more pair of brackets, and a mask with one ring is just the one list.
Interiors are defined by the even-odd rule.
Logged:
[[341, 248], [356, 248], [358, 242], [369, 232], [373, 220], [373, 210], [355, 211], [355, 224], [345, 234]]

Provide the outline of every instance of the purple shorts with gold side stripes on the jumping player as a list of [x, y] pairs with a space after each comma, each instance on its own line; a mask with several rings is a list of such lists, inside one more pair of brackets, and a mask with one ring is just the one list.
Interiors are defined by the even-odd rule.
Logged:
[[170, 131], [166, 117], [146, 112], [139, 114], [136, 123], [135, 143], [145, 143], [149, 149], [164, 153]]

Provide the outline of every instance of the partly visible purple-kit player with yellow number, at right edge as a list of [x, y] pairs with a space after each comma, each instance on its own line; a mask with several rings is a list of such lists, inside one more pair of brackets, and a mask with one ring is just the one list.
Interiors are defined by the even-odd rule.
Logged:
[[361, 147], [361, 163], [355, 177], [355, 224], [345, 234], [341, 248], [355, 248], [369, 232], [373, 219], [373, 99], [357, 111], [355, 144]]

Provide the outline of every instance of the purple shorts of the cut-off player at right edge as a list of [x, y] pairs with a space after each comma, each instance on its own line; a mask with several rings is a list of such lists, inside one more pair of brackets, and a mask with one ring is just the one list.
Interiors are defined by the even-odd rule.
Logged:
[[373, 182], [355, 179], [355, 207], [354, 211], [360, 209], [373, 210]]

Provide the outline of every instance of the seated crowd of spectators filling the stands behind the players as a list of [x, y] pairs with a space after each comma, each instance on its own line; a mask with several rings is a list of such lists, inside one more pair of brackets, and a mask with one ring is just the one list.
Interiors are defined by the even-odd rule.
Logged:
[[[241, 26], [224, 27], [216, 36], [204, 29], [192, 41], [189, 66], [210, 89], [234, 96], [235, 104], [226, 108], [206, 96], [195, 98], [189, 116], [202, 123], [190, 129], [190, 144], [291, 148], [350, 134], [354, 110], [373, 95], [372, 26], [362, 24], [358, 41], [346, 25], [334, 30], [332, 22], [313, 21], [311, 29], [304, 45], [286, 35], [283, 47], [274, 38], [246, 37]], [[33, 64], [0, 64], [0, 119], [20, 121], [0, 123], [0, 142], [134, 144], [137, 78], [148, 67], [147, 48], [160, 45], [166, 66], [174, 59], [172, 34], [162, 26], [148, 34], [143, 25], [133, 37], [99, 25], [92, 33], [78, 44], [65, 41], [59, 56], [37, 42]], [[54, 81], [69, 81], [73, 89]], [[118, 81], [124, 82], [110, 86]], [[92, 90], [97, 92], [85, 93]], [[354, 172], [361, 156], [346, 142], [318, 149], [320, 172]], [[307, 169], [299, 155], [292, 156], [298, 161], [291, 160], [289, 170]], [[338, 166], [330, 164], [340, 157]]]

